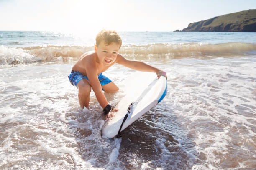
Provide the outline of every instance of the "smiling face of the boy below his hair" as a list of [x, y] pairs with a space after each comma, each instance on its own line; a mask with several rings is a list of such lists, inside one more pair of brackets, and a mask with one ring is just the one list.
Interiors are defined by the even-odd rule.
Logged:
[[99, 62], [108, 66], [115, 61], [118, 55], [119, 45], [114, 42], [110, 45], [105, 45], [104, 41], [102, 41], [100, 45], [94, 45], [94, 50], [97, 53]]

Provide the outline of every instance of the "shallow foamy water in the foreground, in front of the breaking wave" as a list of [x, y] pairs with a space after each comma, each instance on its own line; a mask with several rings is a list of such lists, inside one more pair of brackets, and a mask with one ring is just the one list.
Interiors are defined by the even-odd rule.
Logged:
[[[144, 62], [168, 72], [168, 93], [120, 139], [100, 136], [93, 93], [79, 108], [74, 62], [0, 69], [0, 169], [255, 168], [256, 56]], [[105, 75], [122, 87], [132, 72]]]

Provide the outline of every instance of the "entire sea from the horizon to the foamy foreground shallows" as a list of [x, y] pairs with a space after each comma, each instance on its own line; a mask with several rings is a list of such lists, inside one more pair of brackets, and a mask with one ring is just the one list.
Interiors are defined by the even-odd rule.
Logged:
[[[110, 139], [93, 91], [82, 109], [68, 80], [96, 34], [0, 31], [1, 170], [256, 169], [256, 32], [118, 34], [120, 55], [166, 71], [168, 88]], [[120, 87], [109, 103], [134, 72], [103, 73]]]

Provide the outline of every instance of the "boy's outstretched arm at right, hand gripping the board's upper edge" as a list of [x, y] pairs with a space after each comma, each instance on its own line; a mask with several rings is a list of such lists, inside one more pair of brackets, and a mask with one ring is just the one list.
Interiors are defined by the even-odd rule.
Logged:
[[164, 75], [167, 78], [166, 72], [159, 70], [158, 68], [148, 65], [141, 61], [127, 60], [119, 54], [116, 59], [116, 63], [121, 64], [128, 68], [131, 68], [133, 70], [138, 70], [138, 71], [143, 71], [143, 72], [155, 72], [158, 78], [161, 75]]

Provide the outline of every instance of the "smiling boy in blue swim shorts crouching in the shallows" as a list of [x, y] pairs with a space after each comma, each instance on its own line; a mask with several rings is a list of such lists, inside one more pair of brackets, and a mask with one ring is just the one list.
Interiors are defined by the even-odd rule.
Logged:
[[127, 60], [118, 54], [122, 45], [120, 36], [112, 30], [102, 30], [97, 34], [94, 51], [84, 53], [72, 67], [69, 81], [78, 88], [78, 100], [82, 108], [88, 107], [90, 92], [95, 96], [103, 108], [104, 115], [108, 115], [112, 106], [106, 100], [105, 92], [117, 92], [118, 87], [102, 72], [108, 70], [115, 63], [138, 71], [155, 72], [157, 77], [166, 76], [166, 72], [140, 61]]

